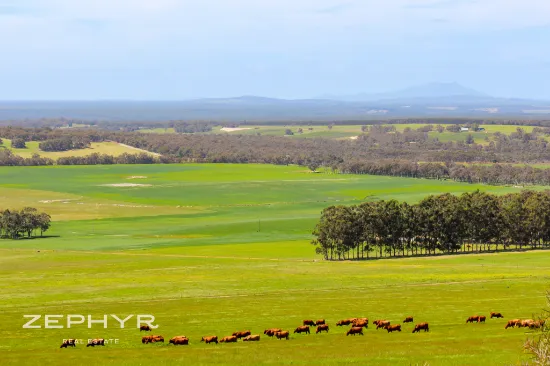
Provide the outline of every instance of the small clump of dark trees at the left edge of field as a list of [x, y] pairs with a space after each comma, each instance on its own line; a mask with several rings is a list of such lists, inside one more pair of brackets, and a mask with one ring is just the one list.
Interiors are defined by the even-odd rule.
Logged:
[[42, 236], [51, 225], [51, 217], [36, 208], [25, 207], [18, 210], [0, 212], [0, 238], [19, 239], [31, 238], [40, 232]]

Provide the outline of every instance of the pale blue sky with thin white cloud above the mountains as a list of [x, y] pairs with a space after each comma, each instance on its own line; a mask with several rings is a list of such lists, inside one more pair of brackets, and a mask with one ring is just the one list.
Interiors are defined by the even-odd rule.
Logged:
[[550, 100], [550, 0], [0, 0], [0, 100]]

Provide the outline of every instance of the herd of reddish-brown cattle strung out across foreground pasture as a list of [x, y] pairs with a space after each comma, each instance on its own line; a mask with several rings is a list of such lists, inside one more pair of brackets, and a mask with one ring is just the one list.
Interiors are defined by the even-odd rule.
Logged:
[[[501, 313], [491, 313], [491, 319], [492, 318], [504, 318]], [[475, 315], [470, 316], [468, 319], [466, 319], [466, 323], [485, 323], [485, 320], [487, 319], [484, 315]], [[405, 320], [403, 320], [403, 323], [412, 323], [414, 322], [414, 319], [412, 316], [406, 317]], [[545, 321], [544, 320], [533, 320], [533, 319], [513, 319], [508, 321], [504, 329], [508, 328], [514, 328], [514, 327], [526, 327], [530, 329], [537, 329], [544, 326]], [[392, 332], [401, 332], [401, 324], [391, 324], [389, 320], [383, 320], [378, 319], [372, 322], [372, 324], [376, 325], [376, 329], [385, 329], [388, 331], [388, 333]], [[324, 319], [320, 319], [317, 321], [313, 320], [304, 320], [302, 322], [302, 325], [297, 327], [294, 330], [294, 333], [305, 333], [310, 334], [310, 326], [316, 327], [315, 333], [321, 333], [321, 332], [327, 332], [329, 331], [329, 326], [325, 322]], [[336, 323], [336, 326], [351, 326], [349, 330], [346, 332], [346, 336], [348, 335], [356, 335], [360, 334], [363, 335], [363, 328], [369, 327], [369, 319], [368, 318], [350, 318], [350, 319], [343, 319], [339, 320]], [[140, 326], [140, 332], [141, 331], [151, 331], [151, 327], [148, 325], [142, 325]], [[413, 328], [413, 333], [417, 333], [423, 330], [424, 332], [429, 332], [430, 328], [428, 323], [418, 323]], [[288, 340], [290, 336], [290, 332], [288, 330], [283, 330], [280, 328], [271, 328], [264, 330], [264, 334], [268, 337], [275, 337], [277, 339], [286, 339]], [[218, 339], [218, 336], [206, 336], [201, 338], [201, 342], [204, 342], [206, 344], [210, 343], [232, 343], [237, 342], [239, 339], [242, 339], [243, 342], [257, 342], [260, 340], [259, 334], [252, 334], [249, 330], [245, 331], [239, 331], [235, 332], [230, 336], [223, 337], [221, 339]], [[162, 342], [164, 343], [164, 337], [160, 335], [146, 335], [141, 338], [141, 343], [148, 344], [148, 343], [158, 343]], [[186, 336], [176, 336], [170, 339], [168, 344], [173, 345], [188, 345], [189, 344], [189, 338]], [[94, 346], [104, 346], [105, 340], [102, 338], [92, 339], [88, 341], [88, 344], [86, 347], [94, 347]], [[76, 340], [75, 339], [67, 339], [64, 340], [61, 344], [60, 348], [67, 348], [68, 346], [75, 347], [76, 346]]]

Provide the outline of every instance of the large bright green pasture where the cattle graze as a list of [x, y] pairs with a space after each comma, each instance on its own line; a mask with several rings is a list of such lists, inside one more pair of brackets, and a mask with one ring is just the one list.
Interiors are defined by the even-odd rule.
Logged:
[[[537, 251], [368, 262], [326, 262], [309, 244], [332, 204], [513, 187], [309, 173], [268, 165], [116, 165], [0, 168], [0, 208], [52, 215], [48, 238], [0, 241], [2, 365], [514, 365], [530, 334], [504, 329], [546, 306], [550, 253]], [[471, 315], [505, 319], [465, 324]], [[135, 317], [120, 329], [23, 329], [23, 315], [154, 315], [165, 344], [141, 343]], [[364, 336], [348, 317], [430, 323]], [[324, 318], [328, 334], [292, 331]], [[291, 331], [290, 340], [263, 330]], [[260, 342], [205, 345], [238, 330]], [[185, 335], [189, 346], [168, 345]], [[63, 338], [117, 339], [60, 349]]]

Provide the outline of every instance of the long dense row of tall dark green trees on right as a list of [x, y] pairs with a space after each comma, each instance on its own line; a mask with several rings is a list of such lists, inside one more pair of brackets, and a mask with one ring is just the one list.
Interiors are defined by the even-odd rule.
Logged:
[[323, 210], [312, 244], [327, 260], [550, 247], [550, 192], [480, 191], [417, 204], [373, 201]]

